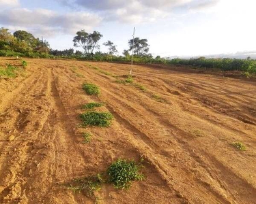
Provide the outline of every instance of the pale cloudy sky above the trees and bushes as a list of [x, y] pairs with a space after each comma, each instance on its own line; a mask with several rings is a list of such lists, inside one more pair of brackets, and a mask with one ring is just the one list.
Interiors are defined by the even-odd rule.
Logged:
[[[0, 27], [74, 48], [77, 31], [99, 31], [119, 54], [146, 38], [154, 56], [256, 53], [255, 0], [0, 0]], [[76, 50], [76, 48], [75, 48]]]

